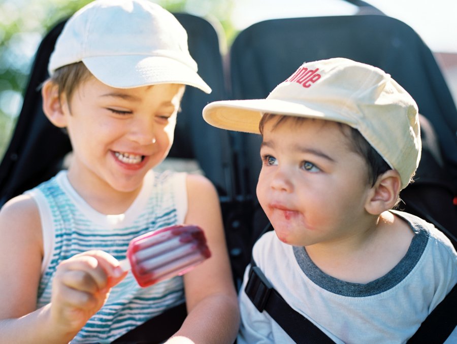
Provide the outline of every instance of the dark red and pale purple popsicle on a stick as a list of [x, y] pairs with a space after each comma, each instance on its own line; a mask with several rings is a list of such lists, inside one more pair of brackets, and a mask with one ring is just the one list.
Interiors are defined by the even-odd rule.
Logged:
[[205, 233], [199, 226], [176, 225], [132, 239], [121, 266], [132, 269], [138, 284], [148, 287], [182, 275], [210, 256]]

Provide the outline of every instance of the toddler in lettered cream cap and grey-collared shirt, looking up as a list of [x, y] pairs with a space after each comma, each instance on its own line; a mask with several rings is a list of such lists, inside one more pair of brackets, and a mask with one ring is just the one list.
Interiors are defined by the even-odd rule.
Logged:
[[[449, 239], [391, 210], [420, 159], [417, 112], [388, 74], [344, 58], [304, 63], [266, 99], [203, 111], [262, 134], [257, 197], [274, 232], [254, 245], [252, 271], [337, 343], [405, 342], [457, 282]], [[291, 342], [256, 308], [265, 294], [248, 297], [249, 271], [238, 342]]]

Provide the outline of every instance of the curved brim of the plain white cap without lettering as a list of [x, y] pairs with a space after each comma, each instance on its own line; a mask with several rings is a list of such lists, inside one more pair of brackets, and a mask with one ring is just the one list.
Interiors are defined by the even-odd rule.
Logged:
[[191, 67], [164, 56], [95, 56], [83, 58], [93, 76], [115, 88], [156, 84], [184, 84], [211, 93], [211, 88]]

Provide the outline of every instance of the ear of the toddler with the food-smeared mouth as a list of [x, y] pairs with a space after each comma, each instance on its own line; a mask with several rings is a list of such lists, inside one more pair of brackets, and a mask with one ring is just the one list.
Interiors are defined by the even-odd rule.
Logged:
[[371, 188], [365, 204], [365, 210], [373, 215], [379, 215], [394, 208], [400, 194], [401, 179], [395, 169], [389, 169], [378, 177]]

